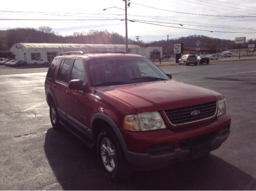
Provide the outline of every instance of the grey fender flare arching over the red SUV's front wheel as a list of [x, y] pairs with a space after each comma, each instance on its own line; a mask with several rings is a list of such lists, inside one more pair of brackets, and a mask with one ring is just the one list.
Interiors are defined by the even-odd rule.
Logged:
[[[91, 120], [91, 123], [90, 123], [90, 126], [92, 127], [92, 124], [94, 122], [94, 120], [96, 119], [101, 119], [101, 120], [104, 120], [106, 121], [108, 124], [110, 124], [110, 126], [112, 127], [112, 129], [114, 130], [114, 132], [116, 133], [116, 136], [118, 137], [118, 140], [122, 146], [122, 149], [124, 152], [127, 152], [128, 149], [126, 147], [126, 144], [125, 144], [125, 141], [124, 141], [124, 138], [122, 136], [122, 133], [120, 131], [120, 129], [118, 128], [118, 126], [116, 125], [116, 123], [109, 117], [107, 116], [106, 114], [103, 114], [103, 113], [96, 113], [94, 114], [94, 116], [92, 116], [92, 120]], [[92, 129], [92, 134], [93, 134], [93, 129]]]

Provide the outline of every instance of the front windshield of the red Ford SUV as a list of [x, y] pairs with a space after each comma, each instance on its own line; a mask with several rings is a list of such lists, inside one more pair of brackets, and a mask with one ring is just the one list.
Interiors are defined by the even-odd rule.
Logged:
[[104, 58], [87, 61], [92, 86], [170, 80], [146, 58]]

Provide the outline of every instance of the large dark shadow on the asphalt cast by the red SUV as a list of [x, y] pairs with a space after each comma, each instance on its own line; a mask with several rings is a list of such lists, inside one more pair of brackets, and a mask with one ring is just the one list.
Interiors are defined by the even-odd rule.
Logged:
[[50, 128], [44, 150], [63, 190], [254, 190], [256, 179], [210, 154], [154, 171], [134, 171], [114, 183], [102, 173], [95, 150], [66, 130]]

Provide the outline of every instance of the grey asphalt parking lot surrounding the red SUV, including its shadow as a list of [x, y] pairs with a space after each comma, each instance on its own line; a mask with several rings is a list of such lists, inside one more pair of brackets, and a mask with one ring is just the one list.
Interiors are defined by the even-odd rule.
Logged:
[[207, 157], [134, 171], [120, 183], [106, 179], [96, 152], [53, 130], [44, 93], [47, 68], [11, 75], [2, 68], [0, 190], [256, 189], [256, 60], [160, 66], [176, 81], [222, 93], [232, 117], [230, 136]]

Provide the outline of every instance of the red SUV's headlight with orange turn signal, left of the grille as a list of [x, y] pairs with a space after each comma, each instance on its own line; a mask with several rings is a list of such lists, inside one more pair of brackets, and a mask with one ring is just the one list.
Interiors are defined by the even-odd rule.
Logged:
[[147, 131], [166, 128], [159, 112], [126, 115], [124, 129], [128, 131]]

